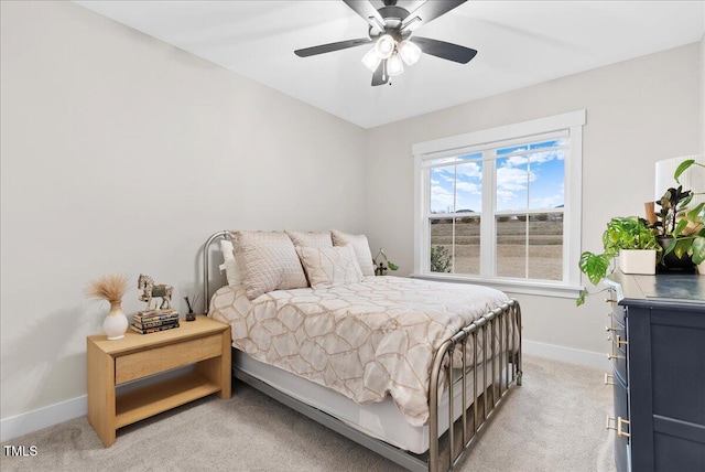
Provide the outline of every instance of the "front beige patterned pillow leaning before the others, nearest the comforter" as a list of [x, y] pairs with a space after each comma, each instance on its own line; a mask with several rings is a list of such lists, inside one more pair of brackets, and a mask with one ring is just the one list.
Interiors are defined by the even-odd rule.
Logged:
[[362, 280], [362, 271], [351, 246], [299, 246], [296, 253], [314, 289], [344, 286]]

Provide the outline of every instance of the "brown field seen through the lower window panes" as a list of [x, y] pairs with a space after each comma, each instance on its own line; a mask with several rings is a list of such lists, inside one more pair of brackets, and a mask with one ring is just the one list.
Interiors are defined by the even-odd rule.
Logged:
[[[479, 232], [477, 219], [463, 218], [455, 224], [454, 272], [479, 273]], [[431, 244], [453, 250], [451, 219], [441, 219], [431, 225]], [[527, 230], [529, 240], [527, 246]], [[563, 222], [519, 221], [497, 223], [498, 276], [523, 278], [527, 247], [529, 250], [529, 277], [561, 280], [563, 278]]]

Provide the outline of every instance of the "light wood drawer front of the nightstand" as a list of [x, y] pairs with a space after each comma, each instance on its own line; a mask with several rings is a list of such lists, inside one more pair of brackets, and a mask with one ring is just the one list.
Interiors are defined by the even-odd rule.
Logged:
[[[149, 334], [145, 335], [149, 336]], [[223, 354], [221, 340], [221, 335], [214, 334], [117, 357], [115, 361], [115, 383], [122, 384], [194, 362], [217, 357]]]

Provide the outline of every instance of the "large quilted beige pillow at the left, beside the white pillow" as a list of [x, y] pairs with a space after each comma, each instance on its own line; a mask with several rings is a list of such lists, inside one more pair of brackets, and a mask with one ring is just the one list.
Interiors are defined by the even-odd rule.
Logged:
[[294, 244], [281, 232], [235, 232], [235, 256], [250, 300], [272, 290], [308, 287]]

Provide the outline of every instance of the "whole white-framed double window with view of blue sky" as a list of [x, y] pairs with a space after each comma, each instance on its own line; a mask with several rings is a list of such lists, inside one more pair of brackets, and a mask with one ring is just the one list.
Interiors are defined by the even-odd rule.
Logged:
[[582, 110], [414, 144], [414, 275], [575, 297], [584, 124]]

